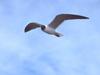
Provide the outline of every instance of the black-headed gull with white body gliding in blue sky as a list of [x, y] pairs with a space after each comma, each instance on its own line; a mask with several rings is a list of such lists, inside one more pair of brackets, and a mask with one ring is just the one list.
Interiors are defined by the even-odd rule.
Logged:
[[74, 20], [74, 19], [89, 19], [88, 17], [85, 16], [81, 16], [81, 15], [75, 15], [75, 14], [59, 14], [57, 15], [53, 21], [48, 24], [48, 25], [42, 25], [39, 23], [29, 23], [25, 29], [24, 32], [28, 32], [32, 29], [36, 29], [36, 28], [41, 28], [42, 31], [51, 34], [51, 35], [55, 35], [57, 37], [62, 36], [61, 33], [56, 32], [56, 28], [61, 25], [62, 22], [64, 22], [65, 20]]

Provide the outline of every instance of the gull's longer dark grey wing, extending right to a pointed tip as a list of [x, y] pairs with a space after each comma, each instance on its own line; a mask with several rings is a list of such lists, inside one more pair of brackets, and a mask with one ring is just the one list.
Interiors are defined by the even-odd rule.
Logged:
[[73, 19], [89, 19], [89, 18], [74, 14], [60, 14], [54, 18], [54, 20], [49, 24], [49, 27], [56, 29], [64, 20], [73, 20]]

